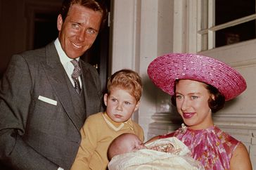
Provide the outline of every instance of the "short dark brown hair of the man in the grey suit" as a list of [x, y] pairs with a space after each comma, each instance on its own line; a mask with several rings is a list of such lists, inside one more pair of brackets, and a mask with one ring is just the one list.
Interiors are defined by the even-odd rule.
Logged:
[[108, 9], [106, 8], [104, 0], [63, 0], [63, 4], [60, 8], [60, 14], [63, 22], [68, 15], [70, 6], [72, 6], [73, 4], [78, 4], [86, 8], [90, 8], [94, 11], [100, 11], [102, 13], [101, 28], [104, 26], [108, 15]]

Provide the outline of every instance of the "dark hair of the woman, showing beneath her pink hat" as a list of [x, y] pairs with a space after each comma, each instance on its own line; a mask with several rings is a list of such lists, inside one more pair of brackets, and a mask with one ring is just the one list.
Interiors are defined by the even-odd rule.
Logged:
[[[174, 95], [172, 96], [171, 100], [172, 100], [172, 105], [177, 106], [176, 105], [176, 84], [179, 82], [179, 79], [177, 79], [175, 81], [175, 86], [174, 86]], [[212, 112], [217, 112], [219, 110], [221, 110], [224, 105], [225, 105], [225, 97], [219, 93], [218, 89], [210, 84], [206, 84], [206, 89], [209, 91], [210, 94], [212, 94], [214, 96], [213, 98], [209, 98], [208, 99], [208, 105], [210, 107], [210, 109], [212, 110]]]

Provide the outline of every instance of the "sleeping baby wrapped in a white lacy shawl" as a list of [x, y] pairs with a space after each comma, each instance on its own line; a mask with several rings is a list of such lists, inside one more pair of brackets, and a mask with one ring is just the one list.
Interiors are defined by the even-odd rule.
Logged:
[[175, 137], [144, 144], [132, 133], [123, 133], [108, 148], [109, 170], [204, 169]]

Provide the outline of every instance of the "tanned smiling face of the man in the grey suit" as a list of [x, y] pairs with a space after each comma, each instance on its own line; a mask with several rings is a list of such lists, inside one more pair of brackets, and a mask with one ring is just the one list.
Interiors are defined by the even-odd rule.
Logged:
[[69, 58], [78, 58], [91, 47], [98, 35], [101, 19], [100, 11], [78, 4], [70, 6], [64, 22], [62, 16], [58, 15], [58, 39]]

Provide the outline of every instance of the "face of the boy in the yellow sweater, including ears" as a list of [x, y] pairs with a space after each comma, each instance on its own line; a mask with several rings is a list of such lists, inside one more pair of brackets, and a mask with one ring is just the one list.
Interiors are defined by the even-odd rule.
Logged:
[[107, 114], [115, 122], [126, 122], [138, 109], [139, 102], [129, 91], [113, 87], [110, 94], [105, 93], [104, 103], [107, 106]]

